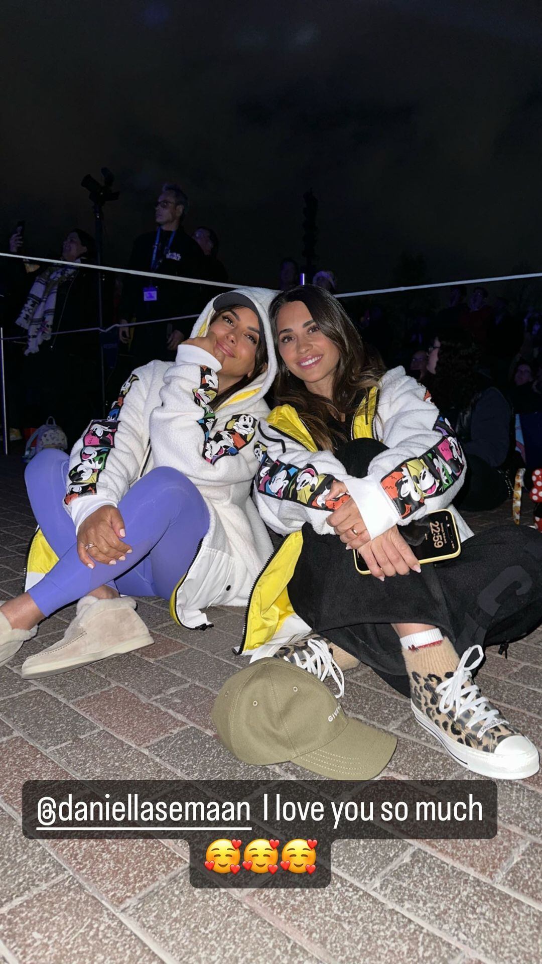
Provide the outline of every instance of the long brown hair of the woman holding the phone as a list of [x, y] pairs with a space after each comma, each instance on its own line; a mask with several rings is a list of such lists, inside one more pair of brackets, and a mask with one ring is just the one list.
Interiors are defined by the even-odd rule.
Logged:
[[[300, 301], [326, 337], [339, 349], [332, 398], [312, 394], [305, 383], [292, 375], [279, 352], [277, 319], [279, 311], [290, 302]], [[378, 385], [385, 366], [376, 353], [366, 349], [346, 311], [337, 298], [314, 284], [299, 285], [283, 291], [271, 302], [269, 316], [273, 329], [278, 372], [272, 393], [277, 405], [291, 405], [296, 410], [312, 439], [320, 449], [332, 448], [328, 419], [340, 420], [354, 415], [369, 388]], [[346, 441], [346, 436], [344, 441]]]

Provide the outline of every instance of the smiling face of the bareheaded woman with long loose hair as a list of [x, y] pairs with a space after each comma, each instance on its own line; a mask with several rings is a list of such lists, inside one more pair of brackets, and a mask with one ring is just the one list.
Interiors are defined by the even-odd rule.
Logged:
[[303, 302], [287, 302], [277, 317], [279, 354], [292, 375], [325, 398], [333, 396], [339, 348], [313, 320]]

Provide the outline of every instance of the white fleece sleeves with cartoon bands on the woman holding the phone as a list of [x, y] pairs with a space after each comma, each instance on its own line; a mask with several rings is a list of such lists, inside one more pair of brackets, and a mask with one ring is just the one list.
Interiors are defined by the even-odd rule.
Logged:
[[326, 522], [326, 497], [338, 479], [355, 500], [371, 539], [393, 525], [406, 525], [443, 508], [453, 512], [462, 541], [472, 536], [450, 505], [465, 478], [459, 442], [425, 388], [402, 367], [392, 368], [381, 379], [374, 426], [387, 451], [370, 462], [365, 478], [355, 478], [333, 452], [310, 452], [260, 419], [255, 499], [263, 521], [282, 535], [295, 532], [304, 522], [311, 522], [320, 535], [329, 535], [334, 530]]

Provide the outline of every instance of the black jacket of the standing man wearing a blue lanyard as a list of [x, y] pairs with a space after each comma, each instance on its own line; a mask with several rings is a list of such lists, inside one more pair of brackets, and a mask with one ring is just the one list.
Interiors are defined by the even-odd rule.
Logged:
[[[168, 248], [172, 232], [160, 229], [154, 272], [159, 275], [176, 275], [184, 278], [205, 278], [205, 257], [202, 249], [183, 228], [177, 228], [171, 246]], [[136, 238], [128, 268], [134, 271], [150, 271], [156, 230], [141, 234]], [[156, 300], [145, 300], [145, 288], [157, 289]], [[181, 281], [154, 281], [151, 278], [138, 278], [135, 275], [122, 276], [122, 301], [120, 317], [131, 324], [133, 321], [150, 321], [154, 318], [171, 318], [182, 314], [199, 312], [202, 301], [200, 285], [183, 284]], [[171, 330], [177, 329], [184, 335], [190, 333], [193, 321], [175, 321]], [[166, 340], [167, 325], [143, 325], [136, 327], [132, 341], [131, 354], [138, 363], [151, 359], [171, 359]]]

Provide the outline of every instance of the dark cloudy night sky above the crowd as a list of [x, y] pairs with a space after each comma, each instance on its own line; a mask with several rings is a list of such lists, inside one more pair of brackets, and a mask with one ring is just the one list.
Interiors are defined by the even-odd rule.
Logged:
[[214, 227], [232, 281], [274, 284], [320, 202], [319, 266], [386, 284], [403, 250], [435, 281], [542, 264], [539, 0], [4, 0], [4, 236], [54, 254], [93, 226], [108, 259], [151, 228], [165, 179]]

